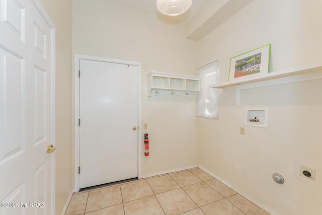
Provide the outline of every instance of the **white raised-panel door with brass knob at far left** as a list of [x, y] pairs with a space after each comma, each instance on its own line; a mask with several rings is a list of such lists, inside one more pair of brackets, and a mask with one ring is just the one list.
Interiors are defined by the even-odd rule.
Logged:
[[54, 214], [54, 30], [38, 6], [0, 0], [0, 214]]

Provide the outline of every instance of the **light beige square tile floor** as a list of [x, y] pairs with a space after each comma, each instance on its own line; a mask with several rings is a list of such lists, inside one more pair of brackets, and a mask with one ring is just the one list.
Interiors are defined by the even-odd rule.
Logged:
[[74, 193], [68, 214], [267, 215], [199, 168]]

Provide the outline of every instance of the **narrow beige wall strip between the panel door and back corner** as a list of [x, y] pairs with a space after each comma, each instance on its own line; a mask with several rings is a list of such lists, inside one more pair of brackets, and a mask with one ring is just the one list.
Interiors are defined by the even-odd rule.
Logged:
[[56, 27], [56, 214], [72, 190], [71, 0], [40, 0]]

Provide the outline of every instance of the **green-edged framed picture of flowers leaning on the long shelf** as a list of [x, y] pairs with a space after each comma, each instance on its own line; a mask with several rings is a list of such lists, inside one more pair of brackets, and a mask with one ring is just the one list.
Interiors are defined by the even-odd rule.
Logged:
[[248, 81], [268, 73], [271, 44], [230, 58], [228, 81]]

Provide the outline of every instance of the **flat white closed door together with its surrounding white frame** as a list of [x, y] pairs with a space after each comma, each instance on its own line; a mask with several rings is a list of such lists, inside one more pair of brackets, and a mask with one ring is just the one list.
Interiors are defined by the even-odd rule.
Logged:
[[[81, 66], [81, 88], [79, 88], [79, 78], [78, 71]], [[97, 68], [97, 73], [95, 76], [91, 77], [91, 71], [94, 68]], [[106, 69], [110, 68], [111, 71], [106, 73]], [[105, 71], [104, 71], [105, 69]], [[84, 70], [84, 71], [83, 71]], [[120, 71], [123, 71], [123, 75], [120, 74]], [[86, 73], [86, 74], [85, 74]], [[121, 75], [121, 76], [120, 76]], [[100, 76], [99, 80], [97, 80], [97, 76]], [[123, 77], [122, 77], [123, 76]], [[109, 79], [110, 78], [110, 79]], [[112, 78], [112, 79], [111, 79]], [[85, 80], [86, 79], [86, 80]], [[104, 81], [103, 79], [109, 79]], [[117, 79], [117, 80], [116, 80]], [[112, 81], [113, 80], [113, 81]], [[117, 60], [111, 58], [102, 58], [102, 57], [93, 57], [86, 55], [75, 55], [75, 191], [78, 191], [79, 188], [84, 188], [88, 186], [98, 185], [102, 183], [108, 183], [112, 181], [128, 179], [133, 177], [141, 177], [141, 131], [139, 125], [141, 124], [141, 64], [139, 62], [134, 61], [125, 61], [125, 60]], [[101, 85], [99, 85], [99, 83]], [[104, 85], [106, 83], [107, 85]], [[110, 86], [110, 85], [115, 85]], [[87, 86], [86, 86], [87, 85]], [[91, 86], [95, 86], [93, 89]], [[128, 92], [129, 89], [136, 89]], [[79, 92], [81, 89], [81, 92]], [[105, 93], [101, 93], [105, 91]], [[110, 91], [110, 94], [107, 93]], [[80, 95], [81, 94], [81, 95]], [[87, 95], [86, 95], [87, 94]], [[91, 94], [93, 95], [93, 98]], [[112, 102], [111, 100], [118, 100], [119, 98], [126, 98], [123, 102], [127, 105], [127, 107], [122, 107], [119, 104], [117, 107], [117, 103]], [[94, 98], [95, 97], [95, 98]], [[130, 98], [133, 97], [133, 100]], [[136, 98], [137, 97], [137, 100]], [[79, 99], [81, 99], [81, 106], [79, 106]], [[87, 101], [84, 101], [87, 100]], [[128, 101], [130, 100], [130, 101]], [[136, 102], [134, 102], [136, 101]], [[134, 102], [134, 103], [133, 103]], [[109, 103], [109, 105], [107, 105]], [[116, 105], [116, 106], [115, 106]], [[114, 106], [114, 107], [113, 107]], [[111, 116], [107, 114], [107, 109], [109, 111], [115, 111], [115, 107], [117, 110], [120, 110], [115, 117], [116, 114]], [[101, 109], [100, 109], [101, 108]], [[131, 110], [131, 108], [133, 110]], [[89, 111], [91, 109], [91, 111]], [[104, 109], [104, 110], [103, 110]], [[127, 110], [127, 111], [125, 111]], [[130, 113], [132, 111], [132, 113]], [[133, 113], [134, 111], [134, 113]], [[124, 113], [126, 112], [126, 113]], [[127, 113], [129, 112], [129, 113]], [[80, 116], [80, 117], [79, 117]], [[126, 117], [127, 116], [127, 117]], [[131, 120], [127, 120], [133, 116]], [[78, 118], [81, 118], [81, 126], [78, 126]], [[102, 119], [102, 120], [101, 120]], [[111, 121], [114, 122], [111, 122]], [[97, 129], [93, 124], [89, 123], [98, 123]], [[119, 123], [118, 123], [119, 122]], [[122, 124], [122, 125], [121, 125]], [[82, 127], [83, 126], [83, 127]], [[138, 127], [137, 130], [132, 130], [132, 127]], [[124, 133], [122, 133], [122, 130]], [[86, 132], [96, 133], [96, 135], [90, 134], [87, 135]], [[97, 133], [102, 132], [105, 135], [97, 135]], [[123, 135], [123, 136], [121, 136]], [[109, 138], [107, 138], [109, 137]], [[120, 141], [120, 140], [125, 141]], [[101, 141], [101, 145], [93, 145], [92, 142]], [[84, 144], [84, 141], [87, 141], [88, 144]], [[107, 141], [109, 141], [109, 145], [107, 145]], [[133, 141], [135, 145], [133, 145]], [[106, 142], [106, 144], [105, 144]], [[132, 142], [131, 144], [129, 144]], [[128, 144], [128, 145], [127, 145]], [[127, 146], [127, 147], [125, 147]], [[100, 151], [101, 150], [101, 151]], [[101, 156], [98, 155], [98, 152], [101, 152]], [[112, 152], [113, 151], [113, 152]], [[133, 153], [135, 151], [135, 155]], [[86, 156], [95, 156], [93, 160], [96, 162], [114, 162], [118, 163], [118, 165], [122, 168], [128, 166], [128, 169], [124, 172], [118, 171], [115, 164], [106, 165], [106, 164], [98, 164], [97, 167], [93, 164], [92, 161], [87, 159], [85, 162], [84, 157]], [[129, 157], [125, 159], [126, 155]], [[126, 162], [123, 160], [130, 161], [130, 165], [126, 165]], [[129, 164], [129, 163], [128, 163]], [[78, 167], [81, 167], [81, 176], [78, 174]], [[92, 180], [91, 176], [86, 178], [85, 175], [89, 175], [89, 173], [94, 173], [95, 171], [99, 177], [95, 177], [95, 180]], [[113, 172], [113, 174], [111, 174]], [[116, 174], [117, 173], [117, 174]], [[105, 174], [105, 175], [104, 175]], [[106, 178], [110, 181], [105, 181]], [[93, 182], [94, 181], [94, 182]], [[94, 184], [93, 184], [94, 183]]]

